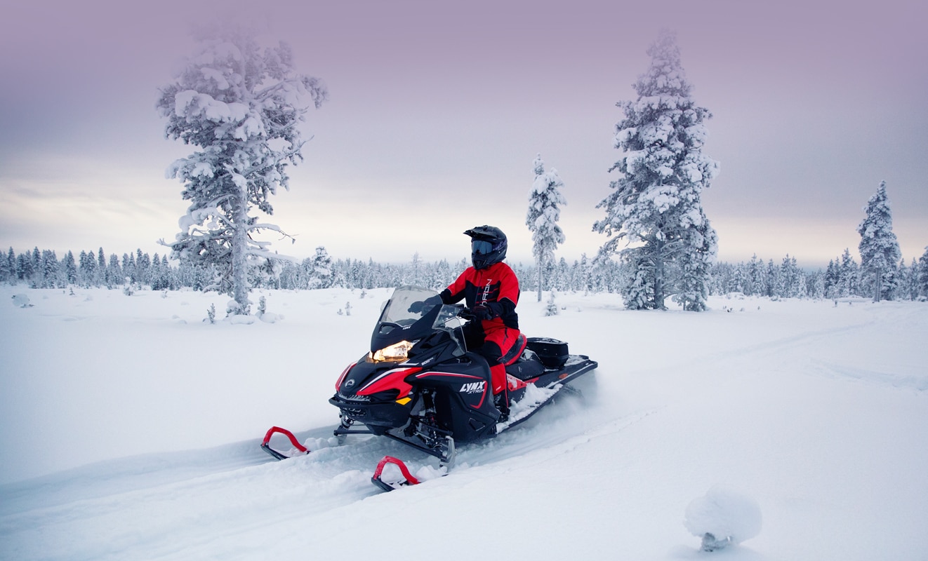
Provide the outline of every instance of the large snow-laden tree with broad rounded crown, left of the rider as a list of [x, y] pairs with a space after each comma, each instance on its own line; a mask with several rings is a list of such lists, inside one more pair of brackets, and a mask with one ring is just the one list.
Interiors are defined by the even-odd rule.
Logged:
[[273, 214], [269, 198], [289, 189], [288, 164], [303, 159], [298, 125], [306, 111], [328, 97], [317, 78], [296, 74], [290, 47], [262, 48], [251, 33], [210, 32], [200, 52], [161, 90], [157, 108], [168, 120], [165, 137], [200, 147], [166, 172], [184, 184], [190, 201], [172, 243], [172, 257], [216, 276], [206, 289], [231, 296], [233, 314], [248, 314], [250, 266], [274, 254], [264, 231], [287, 237], [275, 224], [259, 222], [253, 210]]

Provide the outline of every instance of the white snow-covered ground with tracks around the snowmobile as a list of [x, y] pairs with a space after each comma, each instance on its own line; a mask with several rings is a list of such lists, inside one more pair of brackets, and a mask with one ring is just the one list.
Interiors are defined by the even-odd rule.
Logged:
[[[599, 361], [595, 395], [382, 493], [384, 454], [431, 462], [258, 442], [326, 442], [388, 290], [268, 292], [283, 318], [253, 325], [203, 323], [214, 294], [67, 292], [0, 288], [0, 559], [928, 559], [924, 303], [577, 294], [543, 317], [524, 294], [527, 335]], [[722, 523], [759, 533], [699, 553], [691, 527]]]

